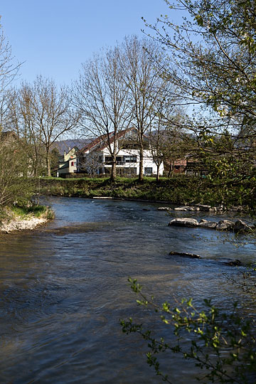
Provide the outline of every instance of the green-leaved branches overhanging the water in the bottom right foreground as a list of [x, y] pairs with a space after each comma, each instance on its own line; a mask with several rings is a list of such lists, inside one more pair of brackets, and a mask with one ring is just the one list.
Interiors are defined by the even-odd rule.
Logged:
[[158, 355], [169, 351], [194, 361], [204, 374], [198, 380], [212, 383], [251, 382], [252, 375], [256, 374], [255, 324], [238, 314], [237, 303], [233, 304], [232, 311], [223, 312], [205, 299], [205, 310], [199, 311], [192, 299], [183, 299], [176, 301], [177, 305], [171, 309], [169, 302], [159, 305], [154, 302], [154, 297], [146, 297], [137, 279], [129, 277], [128, 281], [137, 294], [137, 304], [155, 311], [161, 323], [170, 326], [174, 335], [174, 342], [166, 341], [163, 337], [155, 337], [143, 324], [134, 323], [131, 317], [120, 320], [125, 334], [135, 332], [148, 342], [147, 363], [154, 367], [156, 375], [161, 376], [163, 381], [172, 383], [169, 376], [162, 372]]

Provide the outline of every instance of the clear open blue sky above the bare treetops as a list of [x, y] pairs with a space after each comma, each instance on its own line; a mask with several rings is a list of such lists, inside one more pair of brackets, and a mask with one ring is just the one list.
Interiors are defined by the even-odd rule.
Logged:
[[81, 63], [124, 36], [142, 36], [142, 16], [154, 23], [166, 14], [164, 0], [1, 0], [4, 34], [21, 78], [36, 75], [70, 84]]

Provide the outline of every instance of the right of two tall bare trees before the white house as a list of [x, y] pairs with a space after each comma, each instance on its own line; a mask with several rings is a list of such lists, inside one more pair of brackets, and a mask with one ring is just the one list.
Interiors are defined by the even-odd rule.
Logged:
[[[158, 46], [148, 39], [127, 37], [123, 43], [124, 82], [129, 88], [132, 105], [132, 122], [137, 129], [139, 143], [139, 180], [143, 180], [144, 135], [149, 131], [156, 115], [155, 104], [166, 87], [161, 77], [162, 54]], [[158, 65], [154, 65], [157, 57]]]

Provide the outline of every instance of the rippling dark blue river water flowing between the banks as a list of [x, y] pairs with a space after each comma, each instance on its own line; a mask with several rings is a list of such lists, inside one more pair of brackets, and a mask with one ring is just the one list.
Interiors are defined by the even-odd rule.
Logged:
[[[120, 318], [151, 316], [135, 303], [127, 277], [160, 302], [193, 297], [200, 307], [212, 298], [227, 308], [242, 292], [227, 278], [238, 279], [240, 268], [223, 258], [256, 261], [253, 244], [235, 247], [213, 230], [168, 227], [185, 213], [169, 215], [157, 204], [50, 203], [56, 217], [46, 227], [0, 237], [1, 384], [161, 383], [145, 363], [146, 343], [119, 326]], [[203, 259], [169, 256], [171, 250]], [[250, 311], [249, 298], [243, 303]], [[167, 355], [164, 363], [174, 383], [196, 383], [192, 363]]]

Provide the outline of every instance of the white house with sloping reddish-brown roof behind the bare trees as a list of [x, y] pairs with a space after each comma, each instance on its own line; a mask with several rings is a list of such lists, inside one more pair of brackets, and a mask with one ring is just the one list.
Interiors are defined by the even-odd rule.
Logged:
[[[132, 137], [133, 135], [133, 137]], [[111, 143], [111, 137], [110, 137]], [[113, 139], [110, 144], [113, 149]], [[97, 137], [90, 144], [81, 149], [77, 159], [77, 172], [88, 174], [110, 174], [112, 158], [106, 145], [106, 135]], [[134, 142], [134, 133], [131, 129], [119, 134], [117, 144], [117, 175], [137, 176], [139, 175], [139, 149]], [[156, 174], [157, 166], [154, 162], [150, 149], [144, 150], [143, 173], [145, 176]], [[164, 172], [164, 164], [159, 167], [159, 175]]]

